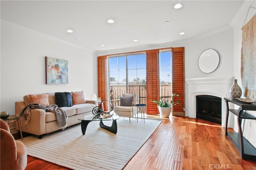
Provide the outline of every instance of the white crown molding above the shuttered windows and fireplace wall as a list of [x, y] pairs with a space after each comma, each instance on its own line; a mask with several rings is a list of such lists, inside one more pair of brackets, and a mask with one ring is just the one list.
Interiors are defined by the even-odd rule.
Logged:
[[185, 45], [188, 45], [190, 43], [199, 41], [201, 39], [210, 37], [212, 35], [216, 35], [218, 33], [222, 33], [224, 31], [228, 31], [229, 29], [232, 29], [230, 25], [227, 25], [225, 27], [222, 27], [220, 29], [214, 30], [210, 33], [206, 33], [204, 35], [193, 37], [191, 39], [185, 39], [182, 41], [174, 41], [174, 42], [168, 42], [168, 43], [161, 43], [156, 45], [143, 45], [138, 47], [129, 47], [129, 48], [122, 48], [122, 49], [114, 49], [114, 50], [106, 50], [106, 51], [96, 51], [97, 56], [102, 55], [112, 55], [112, 54], [118, 54], [118, 53], [128, 53], [128, 52], [134, 52], [134, 51], [142, 51], [142, 50], [150, 50], [150, 49], [161, 49], [161, 48], [169, 48], [169, 47], [184, 47]]

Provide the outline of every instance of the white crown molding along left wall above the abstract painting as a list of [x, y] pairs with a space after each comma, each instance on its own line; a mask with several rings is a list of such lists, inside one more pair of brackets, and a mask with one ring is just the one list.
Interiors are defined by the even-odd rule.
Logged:
[[63, 41], [62, 39], [58, 39], [58, 38], [55, 38], [55, 37], [52, 37], [50, 35], [46, 35], [44, 33], [41, 33], [39, 31], [35, 31], [34, 29], [30, 29], [28, 27], [25, 27], [25, 26], [22, 26], [22, 25], [19, 25], [19, 24], [16, 24], [16, 23], [13, 23], [11, 21], [7, 21], [7, 20], [3, 20], [1, 19], [1, 24], [4, 24], [4, 25], [7, 25], [7, 26], [10, 26], [10, 27], [14, 27], [20, 31], [26, 31], [28, 33], [33, 33], [35, 35], [38, 35], [40, 37], [44, 37], [46, 39], [50, 39], [52, 41], [56, 41], [58, 43], [62, 43], [62, 44], [65, 44], [65, 45], [68, 45], [70, 47], [74, 47], [74, 48], [77, 48], [77, 49], [81, 49], [81, 50], [84, 50], [84, 51], [87, 51], [87, 52], [93, 52], [95, 53], [94, 50], [92, 49], [88, 49], [88, 48], [84, 48], [84, 47], [81, 47], [81, 46], [78, 46], [78, 45], [75, 45], [75, 44], [72, 44], [72, 43], [69, 43], [67, 41]]

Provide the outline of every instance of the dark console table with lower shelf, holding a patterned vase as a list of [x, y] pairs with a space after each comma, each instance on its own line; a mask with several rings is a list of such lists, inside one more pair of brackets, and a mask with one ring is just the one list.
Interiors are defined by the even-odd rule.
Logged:
[[[246, 113], [246, 110], [252, 110], [256, 111], [256, 102], [252, 104], [247, 104], [245, 102], [241, 102], [238, 99], [232, 99], [232, 98], [224, 98], [226, 101], [226, 136], [229, 137], [230, 141], [232, 141], [233, 145], [238, 149], [240, 152], [241, 158], [242, 159], [247, 159], [247, 160], [256, 160], [256, 149], [255, 147], [243, 137], [243, 132], [242, 132], [242, 119], [251, 119], [251, 120], [256, 120], [256, 117], [253, 115], [250, 115], [249, 113]], [[229, 109], [228, 102], [235, 104], [239, 106], [239, 109]], [[233, 113], [234, 115], [237, 116], [237, 121], [238, 121], [238, 133], [236, 132], [228, 132], [228, 115], [229, 112]], [[252, 131], [256, 131], [256, 129], [252, 129]]]

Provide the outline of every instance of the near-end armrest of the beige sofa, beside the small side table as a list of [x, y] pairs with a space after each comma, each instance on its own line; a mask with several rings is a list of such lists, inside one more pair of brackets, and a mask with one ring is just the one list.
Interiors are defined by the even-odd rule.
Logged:
[[[15, 102], [15, 113], [20, 114], [20, 111], [25, 107], [25, 104], [21, 102]], [[45, 119], [46, 113], [43, 109], [31, 109], [31, 118], [28, 124], [25, 124], [25, 116], [20, 118], [20, 126], [22, 132], [32, 133], [34, 135], [42, 135], [45, 133]], [[18, 121], [16, 121], [16, 130], [20, 130]]]

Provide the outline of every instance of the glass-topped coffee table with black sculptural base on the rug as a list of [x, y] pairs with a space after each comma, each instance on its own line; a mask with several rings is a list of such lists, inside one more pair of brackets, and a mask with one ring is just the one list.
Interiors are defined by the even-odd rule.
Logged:
[[[110, 118], [99, 118], [98, 116], [90, 114], [90, 115], [81, 117], [78, 120], [82, 121], [81, 129], [82, 129], [82, 134], [84, 135], [86, 132], [86, 128], [91, 121], [100, 121], [101, 128], [106, 129], [107, 131], [110, 131], [110, 132], [116, 134], [117, 133], [117, 123], [116, 123], [117, 119], [119, 119], [119, 116], [114, 113], [114, 115]], [[103, 124], [103, 121], [110, 121], [110, 120], [113, 121], [111, 126], [106, 126]]]

